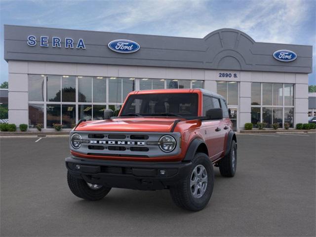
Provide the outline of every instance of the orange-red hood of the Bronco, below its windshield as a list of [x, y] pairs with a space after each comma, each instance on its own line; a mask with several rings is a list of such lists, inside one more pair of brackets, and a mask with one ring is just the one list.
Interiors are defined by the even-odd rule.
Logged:
[[107, 120], [95, 120], [81, 122], [75, 130], [170, 132], [174, 121], [177, 119], [179, 118], [114, 118]]

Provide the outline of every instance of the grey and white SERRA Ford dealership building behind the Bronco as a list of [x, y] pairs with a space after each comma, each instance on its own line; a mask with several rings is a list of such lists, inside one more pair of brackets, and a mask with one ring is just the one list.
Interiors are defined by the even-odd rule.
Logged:
[[223, 95], [237, 130], [308, 119], [312, 46], [256, 42], [235, 29], [199, 39], [5, 25], [4, 59], [9, 122], [30, 128], [102, 119], [130, 91], [160, 88]]

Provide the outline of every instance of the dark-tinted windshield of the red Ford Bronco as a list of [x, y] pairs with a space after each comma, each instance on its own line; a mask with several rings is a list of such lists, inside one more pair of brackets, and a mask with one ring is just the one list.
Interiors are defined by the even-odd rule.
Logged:
[[197, 93], [140, 94], [128, 97], [120, 116], [197, 116]]

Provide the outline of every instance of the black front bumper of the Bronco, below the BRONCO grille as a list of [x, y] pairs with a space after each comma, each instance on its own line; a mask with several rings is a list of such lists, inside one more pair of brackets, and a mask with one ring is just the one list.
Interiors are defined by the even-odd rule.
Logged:
[[66, 167], [70, 174], [88, 183], [137, 190], [167, 189], [187, 176], [191, 166], [191, 161], [143, 162], [66, 158]]

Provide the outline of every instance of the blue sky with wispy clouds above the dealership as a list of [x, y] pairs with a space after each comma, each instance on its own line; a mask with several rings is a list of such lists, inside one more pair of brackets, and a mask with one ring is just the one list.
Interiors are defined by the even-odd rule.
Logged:
[[316, 0], [0, 0], [0, 82], [7, 80], [3, 24], [202, 38], [220, 28], [259, 42], [313, 45]]

